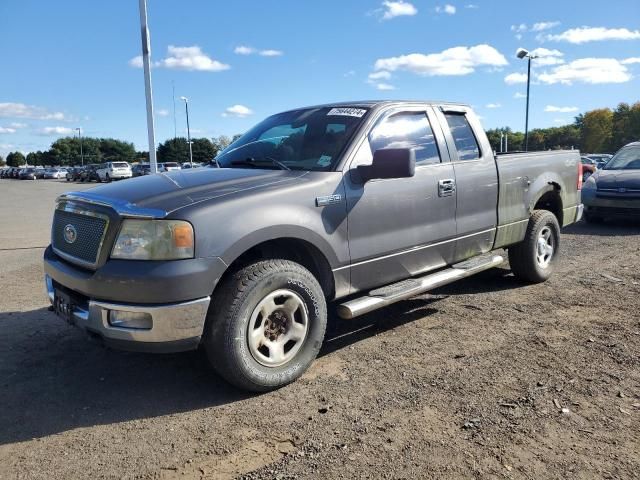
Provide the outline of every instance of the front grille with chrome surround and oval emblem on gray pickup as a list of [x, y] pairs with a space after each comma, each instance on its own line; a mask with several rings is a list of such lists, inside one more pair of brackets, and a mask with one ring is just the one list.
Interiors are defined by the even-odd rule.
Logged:
[[[62, 258], [85, 267], [95, 267], [107, 232], [106, 215], [77, 209], [57, 209], [53, 217], [51, 244]], [[65, 239], [65, 228], [75, 237]]]

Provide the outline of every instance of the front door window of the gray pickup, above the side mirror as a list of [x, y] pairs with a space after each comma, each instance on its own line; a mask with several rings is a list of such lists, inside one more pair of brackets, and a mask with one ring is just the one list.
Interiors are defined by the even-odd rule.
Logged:
[[371, 153], [383, 148], [411, 148], [416, 165], [440, 163], [440, 153], [429, 119], [424, 112], [391, 115], [369, 134]]

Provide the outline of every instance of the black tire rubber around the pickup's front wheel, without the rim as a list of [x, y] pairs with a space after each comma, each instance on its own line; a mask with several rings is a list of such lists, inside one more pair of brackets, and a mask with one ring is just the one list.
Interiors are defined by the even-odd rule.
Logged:
[[[295, 356], [265, 366], [249, 345], [249, 322], [265, 298], [277, 290], [294, 292], [304, 302], [307, 332]], [[263, 320], [264, 321], [264, 320]], [[293, 382], [318, 355], [327, 325], [327, 305], [316, 278], [289, 260], [263, 260], [231, 274], [213, 295], [203, 344], [211, 366], [229, 383], [266, 392]]]

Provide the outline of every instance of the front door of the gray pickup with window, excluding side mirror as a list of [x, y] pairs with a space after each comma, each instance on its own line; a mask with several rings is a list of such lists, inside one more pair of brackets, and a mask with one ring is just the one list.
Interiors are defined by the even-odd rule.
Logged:
[[[456, 188], [444, 136], [426, 107], [383, 114], [345, 173], [353, 291], [392, 283], [450, 263]], [[358, 165], [383, 148], [412, 148], [415, 176], [362, 183]]]

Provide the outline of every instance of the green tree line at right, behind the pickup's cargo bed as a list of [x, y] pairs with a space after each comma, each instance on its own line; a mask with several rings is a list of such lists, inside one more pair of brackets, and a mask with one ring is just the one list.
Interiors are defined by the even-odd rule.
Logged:
[[[524, 150], [524, 133], [509, 127], [487, 130], [489, 142], [500, 151], [500, 134], [509, 151]], [[615, 153], [627, 143], [640, 140], [640, 102], [621, 103], [615, 109], [598, 108], [575, 117], [570, 125], [535, 128], [529, 132], [529, 150], [579, 149], [584, 153]]]

